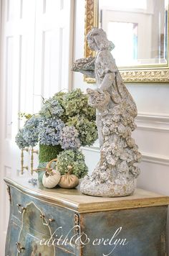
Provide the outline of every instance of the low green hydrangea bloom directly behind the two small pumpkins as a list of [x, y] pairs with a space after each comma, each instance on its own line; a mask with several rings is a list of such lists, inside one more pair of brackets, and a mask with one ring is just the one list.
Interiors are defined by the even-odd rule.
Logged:
[[67, 173], [67, 166], [72, 166], [72, 173], [78, 178], [87, 174], [88, 168], [84, 162], [84, 155], [79, 150], [64, 150], [57, 157], [57, 170], [61, 175]]

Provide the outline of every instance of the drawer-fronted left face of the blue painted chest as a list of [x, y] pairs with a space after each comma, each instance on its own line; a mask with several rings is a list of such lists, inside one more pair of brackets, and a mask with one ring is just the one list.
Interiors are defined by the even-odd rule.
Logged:
[[[74, 229], [73, 211], [67, 211], [67, 209], [53, 206], [37, 200], [36, 198], [29, 197], [12, 187], [11, 198], [12, 203], [10, 205], [9, 228], [6, 237], [6, 255], [18, 255], [16, 242], [19, 242], [22, 247], [27, 248], [21, 253], [21, 255], [25, 256], [31, 256], [32, 251], [36, 247], [37, 251], [35, 251], [43, 252], [44, 256], [75, 255], [76, 248], [69, 244], [66, 246], [64, 246], [64, 244], [62, 245], [64, 237], [67, 237], [70, 240], [71, 237], [76, 234]], [[19, 213], [19, 208], [16, 206], [17, 204], [21, 204], [21, 206], [26, 208], [22, 214]], [[45, 215], [44, 220], [40, 217], [42, 214]], [[47, 223], [49, 219], [54, 219], [54, 221], [47, 227], [43, 224], [43, 221], [44, 223]], [[57, 238], [63, 236], [63, 238], [60, 239], [61, 245], [59, 244], [59, 248], [58, 246], [54, 249], [52, 246], [44, 247], [39, 245], [41, 239], [44, 239], [44, 241], [49, 240], [54, 232], [56, 232]]]

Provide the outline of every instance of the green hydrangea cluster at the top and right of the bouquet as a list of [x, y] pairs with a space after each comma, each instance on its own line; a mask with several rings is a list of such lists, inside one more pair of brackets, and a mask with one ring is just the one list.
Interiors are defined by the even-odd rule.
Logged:
[[62, 111], [59, 111], [59, 118], [64, 124], [77, 129], [82, 146], [90, 146], [97, 140], [95, 109], [89, 106], [87, 94], [77, 88], [69, 93], [55, 93], [50, 101], [57, 101], [62, 108]]

